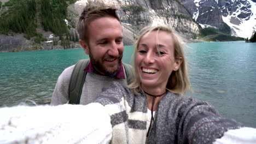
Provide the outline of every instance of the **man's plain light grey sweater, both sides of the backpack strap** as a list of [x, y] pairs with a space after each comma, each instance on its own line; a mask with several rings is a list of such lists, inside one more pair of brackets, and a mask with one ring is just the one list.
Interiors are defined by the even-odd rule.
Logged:
[[[53, 97], [51, 98], [51, 105], [67, 104], [69, 101], [69, 82], [71, 79], [74, 65], [63, 70], [59, 76]], [[86, 105], [94, 101], [102, 92], [103, 87], [109, 87], [111, 81], [118, 81], [127, 85], [126, 79], [117, 79], [115, 77], [103, 76], [94, 73], [88, 73], [85, 77], [85, 82], [82, 89], [80, 104]]]

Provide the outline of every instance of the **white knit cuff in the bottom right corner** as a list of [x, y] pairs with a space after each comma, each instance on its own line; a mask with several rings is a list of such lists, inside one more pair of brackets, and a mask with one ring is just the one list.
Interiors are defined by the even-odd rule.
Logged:
[[217, 139], [213, 144], [255, 144], [256, 143], [256, 129], [243, 127], [240, 129], [228, 130], [224, 135]]

